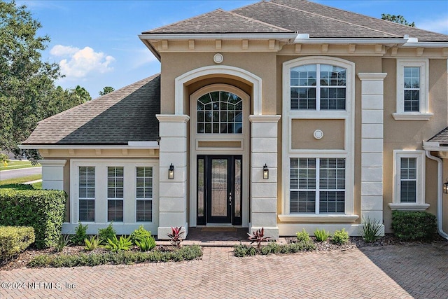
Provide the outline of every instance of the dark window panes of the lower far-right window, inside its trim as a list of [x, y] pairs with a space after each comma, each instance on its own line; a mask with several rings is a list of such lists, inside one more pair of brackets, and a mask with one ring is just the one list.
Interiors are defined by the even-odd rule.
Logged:
[[416, 202], [416, 158], [400, 158], [400, 202]]

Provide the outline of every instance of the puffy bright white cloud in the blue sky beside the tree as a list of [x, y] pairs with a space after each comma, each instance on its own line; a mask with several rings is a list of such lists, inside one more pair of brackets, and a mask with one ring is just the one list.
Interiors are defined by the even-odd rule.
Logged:
[[85, 78], [91, 73], [104, 74], [108, 71], [113, 71], [110, 64], [115, 61], [110, 55], [102, 52], [95, 52], [90, 47], [83, 49], [56, 45], [50, 50], [50, 55], [60, 57], [59, 61], [61, 73], [66, 78]]

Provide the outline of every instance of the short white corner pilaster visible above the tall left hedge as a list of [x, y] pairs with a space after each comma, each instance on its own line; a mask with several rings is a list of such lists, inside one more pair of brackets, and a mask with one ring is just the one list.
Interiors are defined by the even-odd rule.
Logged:
[[64, 166], [67, 160], [39, 160], [42, 165], [42, 189], [64, 190]]

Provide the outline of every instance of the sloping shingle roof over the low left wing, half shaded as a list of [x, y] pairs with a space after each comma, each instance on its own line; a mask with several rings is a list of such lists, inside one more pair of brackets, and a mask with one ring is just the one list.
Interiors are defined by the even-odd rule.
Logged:
[[127, 144], [159, 136], [160, 75], [151, 76], [38, 123], [23, 142]]

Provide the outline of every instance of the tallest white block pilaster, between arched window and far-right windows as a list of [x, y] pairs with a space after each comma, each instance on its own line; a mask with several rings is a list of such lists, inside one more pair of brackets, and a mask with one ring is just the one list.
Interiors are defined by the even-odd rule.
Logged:
[[[360, 73], [361, 217], [383, 223], [384, 73]], [[383, 232], [384, 233], [384, 232]]]

